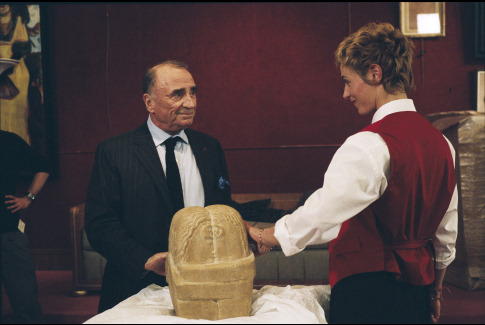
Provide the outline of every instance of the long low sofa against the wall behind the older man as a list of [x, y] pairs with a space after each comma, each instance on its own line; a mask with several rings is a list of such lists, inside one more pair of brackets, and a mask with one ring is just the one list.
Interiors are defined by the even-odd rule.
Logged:
[[[233, 194], [243, 218], [258, 228], [268, 228], [285, 213], [301, 205], [307, 193]], [[70, 208], [70, 231], [73, 249], [72, 295], [84, 295], [101, 289], [106, 259], [93, 250], [84, 231], [84, 207]], [[326, 284], [328, 283], [328, 244], [309, 246], [304, 251], [286, 257], [279, 247], [256, 257], [255, 288], [266, 284]]]

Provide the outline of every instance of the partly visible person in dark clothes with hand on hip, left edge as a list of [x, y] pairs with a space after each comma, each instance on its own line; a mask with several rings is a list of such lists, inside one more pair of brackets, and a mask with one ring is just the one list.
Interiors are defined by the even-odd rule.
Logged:
[[[5, 287], [16, 321], [39, 324], [43, 316], [35, 266], [19, 211], [27, 209], [41, 191], [49, 167], [44, 157], [11, 132], [0, 131], [0, 154], [0, 284]], [[21, 173], [34, 175], [25, 195], [17, 194]]]

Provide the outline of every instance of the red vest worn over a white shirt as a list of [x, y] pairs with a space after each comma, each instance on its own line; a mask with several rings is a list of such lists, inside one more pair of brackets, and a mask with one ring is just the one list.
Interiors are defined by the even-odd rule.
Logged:
[[384, 194], [342, 224], [329, 245], [329, 281], [388, 271], [414, 285], [434, 281], [428, 241], [456, 184], [453, 158], [440, 131], [416, 112], [393, 113], [362, 131], [379, 134], [390, 153]]

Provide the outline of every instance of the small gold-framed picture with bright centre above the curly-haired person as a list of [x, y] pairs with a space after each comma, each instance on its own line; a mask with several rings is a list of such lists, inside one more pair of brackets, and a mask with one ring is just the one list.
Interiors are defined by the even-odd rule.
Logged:
[[444, 2], [400, 2], [401, 31], [409, 37], [444, 37]]

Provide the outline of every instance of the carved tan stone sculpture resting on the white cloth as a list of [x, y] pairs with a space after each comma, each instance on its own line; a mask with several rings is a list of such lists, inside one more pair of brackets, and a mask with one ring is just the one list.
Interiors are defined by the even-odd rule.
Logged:
[[166, 270], [177, 316], [249, 316], [254, 255], [241, 215], [233, 208], [211, 205], [178, 211], [170, 226]]

